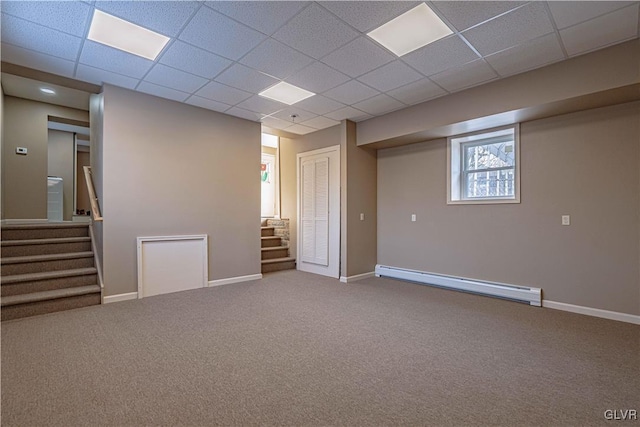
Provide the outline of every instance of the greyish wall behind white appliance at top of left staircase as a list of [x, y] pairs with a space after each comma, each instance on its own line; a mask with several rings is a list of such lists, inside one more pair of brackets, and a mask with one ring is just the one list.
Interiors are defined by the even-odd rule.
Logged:
[[73, 182], [75, 179], [73, 133], [49, 129], [48, 175], [62, 178], [62, 218], [71, 221], [73, 214]]

